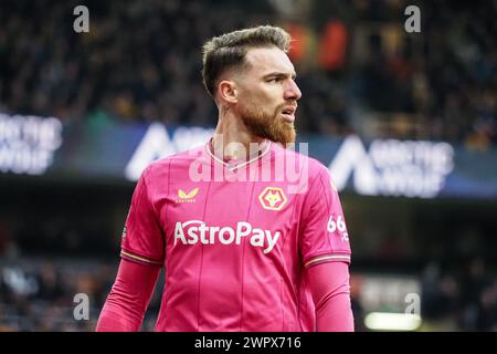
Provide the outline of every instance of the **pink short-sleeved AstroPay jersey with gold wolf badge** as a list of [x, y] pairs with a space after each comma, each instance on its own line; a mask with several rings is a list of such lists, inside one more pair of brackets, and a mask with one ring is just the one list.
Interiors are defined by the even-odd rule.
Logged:
[[306, 268], [350, 262], [350, 246], [319, 162], [266, 142], [231, 165], [207, 144], [146, 168], [121, 257], [166, 267], [157, 331], [294, 332], [315, 330]]

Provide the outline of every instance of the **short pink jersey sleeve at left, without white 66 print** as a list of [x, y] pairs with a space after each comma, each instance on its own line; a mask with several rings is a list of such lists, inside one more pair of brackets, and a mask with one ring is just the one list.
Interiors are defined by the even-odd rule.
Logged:
[[133, 194], [123, 230], [120, 257], [141, 264], [162, 266], [165, 238], [154, 208], [149, 178], [150, 166], [141, 174]]

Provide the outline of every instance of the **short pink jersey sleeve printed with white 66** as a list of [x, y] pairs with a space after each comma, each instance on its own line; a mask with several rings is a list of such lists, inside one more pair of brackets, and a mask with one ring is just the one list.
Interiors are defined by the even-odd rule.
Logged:
[[332, 261], [350, 263], [349, 235], [340, 198], [325, 166], [319, 166], [307, 191], [299, 236], [304, 267]]

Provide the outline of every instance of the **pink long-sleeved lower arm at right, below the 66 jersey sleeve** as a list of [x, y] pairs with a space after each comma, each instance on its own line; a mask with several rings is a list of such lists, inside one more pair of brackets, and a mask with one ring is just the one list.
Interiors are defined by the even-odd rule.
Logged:
[[353, 332], [349, 264], [325, 262], [309, 267], [308, 285], [316, 306], [318, 332]]

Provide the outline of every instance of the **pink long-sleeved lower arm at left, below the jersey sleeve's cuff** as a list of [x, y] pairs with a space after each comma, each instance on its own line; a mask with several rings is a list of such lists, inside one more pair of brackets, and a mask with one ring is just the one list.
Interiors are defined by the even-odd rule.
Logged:
[[160, 269], [123, 259], [116, 281], [98, 317], [96, 331], [139, 331]]

